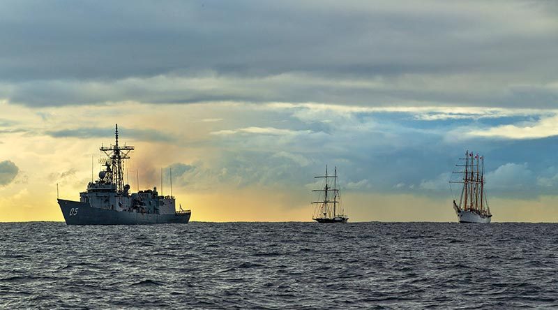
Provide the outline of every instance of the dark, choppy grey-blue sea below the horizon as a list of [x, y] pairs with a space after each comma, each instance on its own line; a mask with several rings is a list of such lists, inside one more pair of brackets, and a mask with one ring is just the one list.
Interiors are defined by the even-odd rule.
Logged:
[[6, 309], [558, 307], [558, 225], [0, 224]]

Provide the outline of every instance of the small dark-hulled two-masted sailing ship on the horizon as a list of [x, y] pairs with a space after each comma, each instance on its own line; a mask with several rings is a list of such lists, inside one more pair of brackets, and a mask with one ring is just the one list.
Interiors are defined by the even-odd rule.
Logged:
[[[340, 192], [337, 187], [337, 167], [335, 167], [333, 175], [328, 175], [326, 165], [326, 174], [314, 178], [324, 179], [324, 187], [312, 190], [312, 192], [319, 193], [318, 200], [312, 202], [312, 204], [316, 205], [312, 219], [318, 223], [347, 223], [349, 218], [345, 215], [345, 211], [340, 203]], [[333, 187], [331, 186], [332, 182]]]

